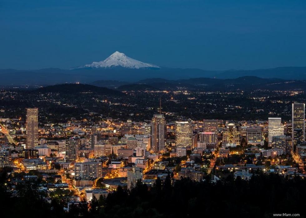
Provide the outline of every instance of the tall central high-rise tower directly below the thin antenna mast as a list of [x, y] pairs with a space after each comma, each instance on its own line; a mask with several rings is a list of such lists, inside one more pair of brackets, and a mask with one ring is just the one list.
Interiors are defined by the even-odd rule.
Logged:
[[154, 114], [151, 124], [151, 150], [160, 152], [165, 150], [166, 120], [163, 114]]

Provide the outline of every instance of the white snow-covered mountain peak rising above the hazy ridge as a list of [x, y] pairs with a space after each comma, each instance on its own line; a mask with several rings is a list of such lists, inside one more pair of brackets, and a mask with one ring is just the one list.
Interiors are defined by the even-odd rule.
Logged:
[[91, 67], [91, 68], [109, 68], [109, 67], [126, 67], [131, 69], [140, 69], [140, 68], [160, 68], [159, 66], [144, 63], [141, 61], [137, 61], [133, 58], [126, 56], [125, 54], [116, 51], [111, 56], [106, 58], [104, 61], [92, 62], [91, 64], [86, 64], [83, 67]]

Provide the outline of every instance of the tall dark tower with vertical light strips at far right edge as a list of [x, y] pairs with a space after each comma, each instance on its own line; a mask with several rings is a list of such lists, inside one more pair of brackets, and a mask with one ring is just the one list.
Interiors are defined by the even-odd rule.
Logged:
[[292, 104], [292, 151], [305, 140], [305, 104]]

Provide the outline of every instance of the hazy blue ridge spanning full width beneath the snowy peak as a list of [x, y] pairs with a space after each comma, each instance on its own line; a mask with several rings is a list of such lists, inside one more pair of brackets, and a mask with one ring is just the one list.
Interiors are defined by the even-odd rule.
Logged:
[[[182, 84], [217, 84], [220, 81], [222, 84], [226, 82], [232, 83], [249, 83], [249, 79], [267, 80], [279, 78], [282, 80], [306, 80], [306, 67], [278, 67], [273, 69], [259, 70], [200, 70], [200, 69], [180, 69], [180, 68], [126, 68], [121, 66], [116, 67], [87, 67], [74, 68], [71, 70], [47, 68], [40, 70], [14, 70], [0, 69], [0, 86], [15, 86], [15, 85], [54, 85], [62, 83], [93, 84], [101, 87], [116, 88], [121, 85], [144, 83], [172, 83], [171, 81], [180, 81]], [[251, 76], [251, 77], [246, 77]], [[152, 81], [153, 78], [155, 81]], [[229, 80], [243, 78], [239, 80]], [[219, 80], [220, 79], [220, 80]], [[222, 80], [222, 81], [221, 81]], [[225, 81], [224, 81], [225, 80]], [[242, 81], [244, 80], [244, 81]], [[112, 86], [104, 82], [111, 81]], [[126, 82], [120, 84], [114, 81]], [[259, 81], [251, 81], [258, 83]]]

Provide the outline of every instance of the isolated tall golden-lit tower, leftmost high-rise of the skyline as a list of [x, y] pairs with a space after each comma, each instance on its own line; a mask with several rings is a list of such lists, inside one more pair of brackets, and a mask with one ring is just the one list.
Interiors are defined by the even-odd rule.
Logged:
[[38, 146], [38, 109], [27, 108], [27, 148]]

